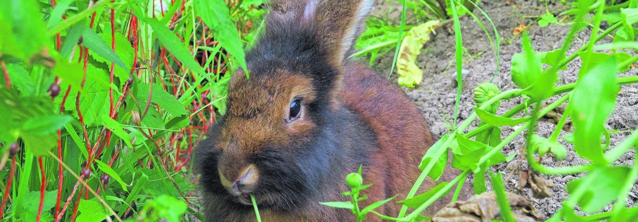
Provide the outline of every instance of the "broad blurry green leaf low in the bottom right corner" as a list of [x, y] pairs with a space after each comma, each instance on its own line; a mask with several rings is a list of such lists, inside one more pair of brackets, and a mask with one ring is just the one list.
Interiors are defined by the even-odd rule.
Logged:
[[584, 189], [584, 195], [577, 200], [582, 211], [586, 213], [600, 211], [616, 200], [618, 193], [623, 189], [623, 183], [619, 181], [627, 179], [629, 170], [625, 166], [597, 167], [586, 176], [568, 183], [567, 191], [573, 194], [577, 189]]

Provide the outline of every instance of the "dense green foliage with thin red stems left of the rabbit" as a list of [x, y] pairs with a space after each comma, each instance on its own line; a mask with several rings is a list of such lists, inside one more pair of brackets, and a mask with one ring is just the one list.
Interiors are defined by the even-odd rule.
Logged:
[[0, 218], [201, 219], [191, 153], [262, 4], [3, 2]]

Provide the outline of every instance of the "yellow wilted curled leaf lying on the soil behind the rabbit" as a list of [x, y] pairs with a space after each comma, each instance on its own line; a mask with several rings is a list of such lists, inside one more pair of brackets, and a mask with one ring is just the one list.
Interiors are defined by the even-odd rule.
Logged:
[[421, 53], [423, 45], [430, 40], [430, 33], [441, 26], [440, 20], [431, 20], [424, 24], [412, 27], [401, 42], [399, 56], [397, 58], [397, 74], [399, 74], [399, 85], [404, 87], [414, 87], [423, 80], [423, 71], [417, 64], [417, 56]]

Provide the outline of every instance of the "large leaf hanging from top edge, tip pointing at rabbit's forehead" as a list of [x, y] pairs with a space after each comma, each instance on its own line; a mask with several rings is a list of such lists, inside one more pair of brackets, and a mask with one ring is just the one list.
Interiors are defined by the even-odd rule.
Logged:
[[228, 11], [226, 2], [223, 0], [195, 0], [193, 1], [193, 8], [195, 9], [195, 15], [202, 18], [204, 23], [211, 28], [219, 44], [237, 60], [239, 66], [248, 74], [246, 56], [239, 38], [239, 32], [237, 32], [237, 27], [230, 19], [230, 11]]

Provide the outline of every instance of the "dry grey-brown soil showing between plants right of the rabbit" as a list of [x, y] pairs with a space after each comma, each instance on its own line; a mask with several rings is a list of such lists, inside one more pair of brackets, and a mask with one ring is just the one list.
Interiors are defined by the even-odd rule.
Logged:
[[[511, 3], [511, 4], [508, 4]], [[514, 27], [517, 27], [521, 23], [530, 24], [536, 17], [545, 13], [544, 3], [542, 1], [530, 0], [530, 1], [482, 1], [479, 6], [486, 11], [491, 17], [496, 29], [501, 35], [501, 65], [499, 67], [499, 74], [494, 78], [494, 83], [501, 87], [501, 90], [509, 90], [517, 88], [512, 83], [510, 78], [511, 58], [514, 53], [521, 52], [519, 36], [514, 36], [512, 31]], [[558, 3], [549, 6], [550, 11], [564, 11], [565, 5]], [[409, 11], [409, 10], [408, 10]], [[475, 10], [477, 15], [480, 15]], [[401, 15], [401, 5], [397, 1], [377, 0], [375, 11], [373, 16], [390, 20], [394, 24], [399, 24]], [[560, 18], [559, 18], [560, 19]], [[413, 17], [408, 16], [406, 18], [408, 24], [414, 22]], [[489, 25], [487, 20], [483, 19], [484, 24]], [[566, 21], [568, 22], [568, 21]], [[605, 28], [605, 24], [604, 27]], [[468, 116], [470, 116], [472, 106], [474, 102], [472, 100], [472, 90], [478, 83], [489, 81], [494, 76], [494, 70], [496, 69], [495, 56], [491, 51], [489, 45], [489, 39], [487, 39], [485, 32], [471, 17], [461, 18], [461, 29], [463, 33], [463, 46], [467, 49], [466, 55], [463, 57], [463, 94], [461, 95], [460, 114], [457, 122], [462, 122]], [[491, 30], [491, 27], [488, 27]], [[448, 22], [440, 29], [437, 29], [437, 34], [433, 36], [429, 43], [422, 50], [422, 53], [417, 59], [417, 65], [424, 71], [424, 81], [414, 89], [404, 88], [406, 94], [412, 97], [413, 101], [417, 103], [422, 109], [423, 115], [431, 126], [431, 130], [434, 134], [443, 135], [448, 132], [446, 128], [452, 122], [452, 113], [454, 113], [454, 102], [456, 98], [456, 73], [455, 73], [455, 59], [454, 59], [454, 33], [452, 32], [452, 22]], [[533, 42], [535, 50], [551, 51], [560, 48], [563, 43], [563, 38], [568, 31], [568, 25], [549, 25], [548, 27], [539, 27], [538, 25], [531, 25], [529, 32], [530, 38]], [[577, 48], [581, 47], [584, 42], [590, 36], [590, 31], [582, 31], [576, 39], [574, 46], [568, 52], [570, 55]], [[611, 41], [610, 39], [604, 39], [603, 41]], [[392, 51], [394, 52], [394, 51]], [[382, 74], [388, 74], [390, 64], [392, 63], [392, 53], [375, 61], [374, 68], [376, 71]], [[362, 60], [366, 62], [366, 60]], [[579, 59], [571, 62], [567, 70], [561, 71], [558, 85], [566, 83], [573, 83], [577, 80], [577, 72], [581, 66]], [[619, 76], [635, 76], [638, 74], [638, 69], [633, 67], [627, 73], [621, 73]], [[393, 74], [396, 76], [396, 74]], [[396, 81], [396, 78], [392, 78]], [[556, 98], [554, 98], [556, 99]], [[521, 100], [514, 99], [505, 101], [501, 104], [498, 114], [505, 113], [509, 108], [512, 108], [519, 104]], [[607, 121], [607, 129], [609, 130], [635, 130], [638, 128], [638, 85], [625, 85], [618, 94], [616, 110], [612, 114], [611, 118]], [[595, 104], [592, 104], [595, 105]], [[476, 123], [473, 123], [476, 124]], [[554, 124], [541, 122], [537, 134], [544, 137], [549, 137]], [[506, 137], [512, 132], [512, 128], [503, 128], [502, 137]], [[612, 134], [611, 147], [619, 142], [623, 141], [628, 136], [628, 132], [621, 132]], [[563, 135], [566, 135], [563, 133]], [[501, 163], [491, 168], [493, 171], [500, 170], [503, 172], [506, 189], [512, 192], [521, 193], [526, 197], [529, 197], [538, 212], [540, 212], [544, 218], [549, 218], [558, 209], [560, 209], [562, 200], [568, 198], [568, 193], [565, 190], [567, 183], [577, 176], [545, 176], [549, 181], [554, 183], [554, 187], [551, 188], [551, 197], [549, 198], [533, 198], [531, 190], [524, 188], [523, 191], [518, 191], [516, 188], [517, 180], [519, 178], [519, 170], [527, 169], [527, 164], [524, 160], [521, 160], [519, 149], [524, 148], [524, 137], [519, 135], [508, 144], [503, 153], [508, 156], [517, 154], [516, 158], [510, 163]], [[577, 157], [574, 153], [573, 146], [570, 146], [564, 141], [563, 145], [568, 148], [568, 155], [565, 160], [556, 162], [551, 158], [545, 158], [543, 163], [548, 166], [565, 166], [565, 165], [579, 165], [587, 163]], [[634, 151], [630, 151], [627, 155], [623, 156], [617, 163], [619, 164], [633, 164], [634, 163]], [[472, 179], [472, 178], [468, 178]], [[488, 189], [489, 189], [489, 183]], [[629, 205], [636, 205], [638, 201], [638, 185], [635, 185], [630, 193], [628, 200]], [[605, 207], [604, 211], [611, 210], [611, 206]]]

